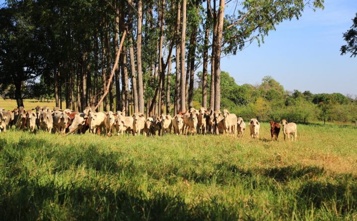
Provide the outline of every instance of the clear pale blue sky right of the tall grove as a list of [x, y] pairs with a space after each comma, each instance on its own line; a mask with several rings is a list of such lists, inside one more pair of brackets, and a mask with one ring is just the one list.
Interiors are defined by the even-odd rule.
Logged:
[[258, 84], [271, 75], [286, 90], [357, 95], [357, 57], [341, 56], [339, 51], [345, 44], [342, 34], [357, 13], [357, 0], [325, 0], [324, 6], [283, 22], [260, 47], [253, 43], [223, 58], [221, 70], [239, 85]]

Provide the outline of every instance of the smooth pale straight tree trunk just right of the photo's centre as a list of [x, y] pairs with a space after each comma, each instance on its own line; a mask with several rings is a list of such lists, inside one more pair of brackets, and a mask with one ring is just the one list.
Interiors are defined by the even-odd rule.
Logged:
[[182, 30], [181, 30], [181, 111], [182, 112], [186, 112], [185, 41], [186, 41], [186, 0], [183, 0], [182, 1]]

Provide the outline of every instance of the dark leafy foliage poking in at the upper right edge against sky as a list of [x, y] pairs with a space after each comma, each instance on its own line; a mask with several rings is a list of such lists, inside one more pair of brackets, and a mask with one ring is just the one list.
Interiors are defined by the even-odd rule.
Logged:
[[355, 57], [357, 55], [357, 13], [354, 19], [352, 19], [352, 22], [351, 28], [343, 33], [343, 40], [345, 40], [347, 44], [343, 45], [340, 51], [341, 55], [351, 53], [350, 57]]

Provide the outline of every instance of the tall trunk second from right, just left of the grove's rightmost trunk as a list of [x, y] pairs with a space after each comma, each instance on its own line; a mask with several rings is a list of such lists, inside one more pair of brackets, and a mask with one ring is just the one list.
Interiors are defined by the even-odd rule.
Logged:
[[216, 36], [217, 36], [217, 14], [216, 0], [213, 1], [213, 33], [212, 33], [212, 53], [211, 53], [211, 92], [210, 92], [210, 108], [214, 109], [215, 98], [215, 53], [216, 53]]

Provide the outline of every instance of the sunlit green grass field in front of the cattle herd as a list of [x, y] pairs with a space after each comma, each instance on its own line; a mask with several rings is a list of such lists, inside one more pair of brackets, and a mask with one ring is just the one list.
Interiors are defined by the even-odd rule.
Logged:
[[[0, 220], [356, 220], [357, 130], [298, 141], [0, 134]], [[282, 135], [282, 134], [281, 134]]]

